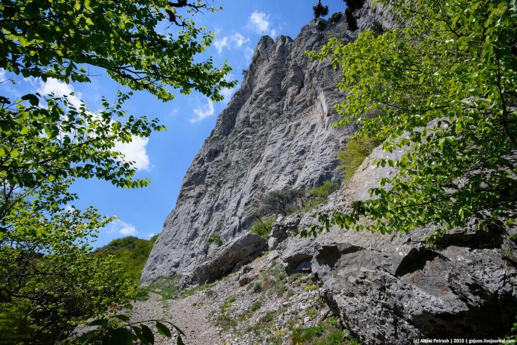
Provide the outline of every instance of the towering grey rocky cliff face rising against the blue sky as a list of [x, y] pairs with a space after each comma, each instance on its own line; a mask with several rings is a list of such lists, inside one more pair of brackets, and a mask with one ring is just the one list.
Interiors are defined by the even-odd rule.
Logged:
[[[371, 3], [359, 11], [360, 28], [374, 18], [388, 20], [386, 11]], [[318, 20], [295, 40], [260, 39], [240, 89], [187, 171], [144, 281], [192, 271], [207, 257], [210, 234], [228, 241], [250, 226], [248, 210], [264, 193], [337, 178], [338, 151], [355, 128], [330, 126], [336, 120], [333, 106], [344, 97], [336, 88], [340, 73], [303, 52], [320, 49], [329, 37], [351, 40], [351, 35], [344, 19]]]

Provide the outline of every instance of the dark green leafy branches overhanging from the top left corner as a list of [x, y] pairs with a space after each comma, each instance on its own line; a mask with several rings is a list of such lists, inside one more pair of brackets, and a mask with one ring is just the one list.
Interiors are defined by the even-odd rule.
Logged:
[[[178, 13], [180, 8], [187, 12]], [[84, 66], [97, 66], [118, 83], [162, 100], [173, 98], [168, 85], [222, 100], [219, 91], [234, 85], [224, 80], [230, 67], [216, 68], [211, 58], [195, 62], [214, 38], [189, 18], [203, 9], [216, 10], [204, 0], [2, 0], [0, 68], [68, 83], [88, 82]], [[177, 35], [157, 32], [167, 19], [180, 25]]]

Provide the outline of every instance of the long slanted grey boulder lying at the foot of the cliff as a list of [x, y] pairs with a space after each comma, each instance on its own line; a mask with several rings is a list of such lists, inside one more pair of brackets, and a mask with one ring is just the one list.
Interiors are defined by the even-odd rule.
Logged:
[[190, 283], [205, 284], [231, 273], [234, 268], [249, 263], [267, 248], [262, 236], [247, 233], [221, 246], [214, 258], [196, 266], [189, 278]]

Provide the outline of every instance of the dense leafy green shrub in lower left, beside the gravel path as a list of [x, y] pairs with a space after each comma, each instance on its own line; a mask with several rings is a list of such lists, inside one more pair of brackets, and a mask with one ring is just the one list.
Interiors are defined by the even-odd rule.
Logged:
[[135, 296], [113, 257], [88, 253], [87, 239], [111, 219], [93, 207], [64, 211], [69, 184], [22, 192], [3, 219], [0, 310], [10, 320], [0, 320], [0, 343], [63, 340], [76, 325], [110, 307], [128, 307]]

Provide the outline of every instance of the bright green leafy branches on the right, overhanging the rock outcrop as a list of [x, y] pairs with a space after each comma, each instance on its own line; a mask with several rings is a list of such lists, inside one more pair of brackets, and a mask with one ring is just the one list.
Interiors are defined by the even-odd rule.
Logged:
[[[354, 138], [387, 138], [377, 159], [395, 167], [351, 213], [318, 215], [316, 234], [346, 229], [408, 232], [432, 226], [428, 241], [464, 227], [513, 222], [517, 167], [517, 3], [515, 0], [400, 0], [402, 28], [331, 39], [315, 58], [343, 71], [347, 92], [339, 125], [357, 121]], [[364, 113], [378, 110], [373, 118]]]

